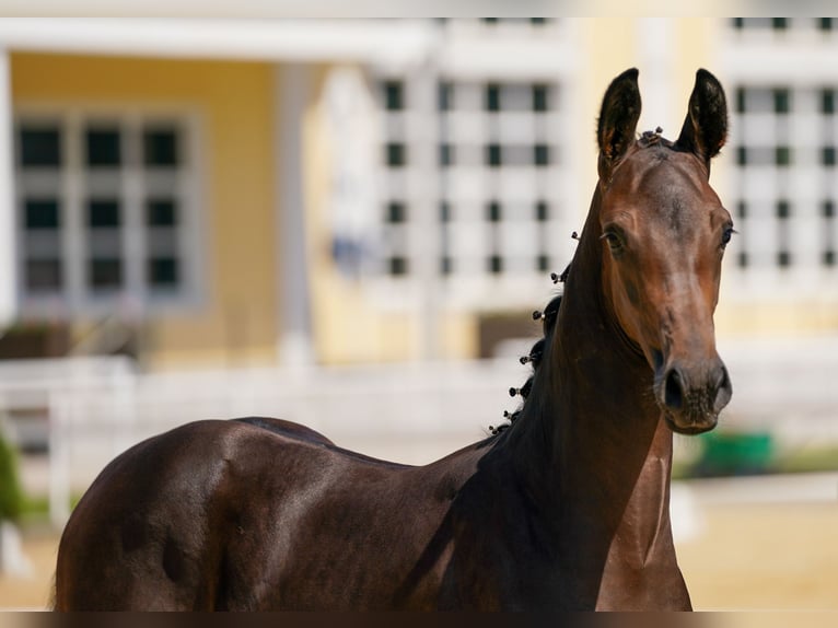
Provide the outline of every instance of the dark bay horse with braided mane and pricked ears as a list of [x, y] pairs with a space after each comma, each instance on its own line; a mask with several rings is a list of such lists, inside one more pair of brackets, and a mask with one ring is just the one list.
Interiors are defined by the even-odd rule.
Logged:
[[713, 311], [733, 233], [709, 185], [724, 92], [699, 70], [678, 139], [609, 85], [598, 183], [505, 429], [426, 466], [276, 419], [199, 421], [114, 460], [61, 538], [56, 608], [687, 609], [673, 431], [731, 397]]

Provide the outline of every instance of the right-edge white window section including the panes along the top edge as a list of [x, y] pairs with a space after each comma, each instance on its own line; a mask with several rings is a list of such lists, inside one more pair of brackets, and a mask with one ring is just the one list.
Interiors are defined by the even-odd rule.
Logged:
[[[735, 77], [729, 152], [740, 233], [729, 258], [742, 276], [756, 278], [741, 283], [748, 296], [776, 298], [778, 289], [820, 294], [835, 281], [838, 243], [838, 82], [818, 69], [835, 54], [835, 20], [743, 18], [728, 24], [731, 58], [764, 50], [766, 70], [754, 78], [748, 55], [729, 69]], [[800, 53], [811, 66], [775, 63]]]

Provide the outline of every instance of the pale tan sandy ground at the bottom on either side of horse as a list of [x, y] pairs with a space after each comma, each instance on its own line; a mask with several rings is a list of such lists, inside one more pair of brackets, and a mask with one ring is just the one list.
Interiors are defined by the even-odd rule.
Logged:
[[[688, 522], [676, 530], [678, 558], [697, 608], [838, 610], [838, 474], [705, 480], [675, 496]], [[57, 542], [25, 532], [33, 573], [0, 575], [0, 608], [45, 606]]]

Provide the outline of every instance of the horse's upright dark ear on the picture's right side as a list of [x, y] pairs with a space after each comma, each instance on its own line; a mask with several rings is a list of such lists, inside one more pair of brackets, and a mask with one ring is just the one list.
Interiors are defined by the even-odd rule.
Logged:
[[707, 70], [696, 72], [696, 85], [680, 136], [675, 142], [703, 159], [708, 165], [728, 138], [728, 101], [721, 83]]

